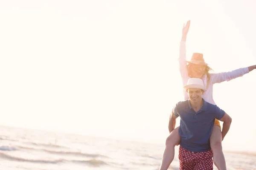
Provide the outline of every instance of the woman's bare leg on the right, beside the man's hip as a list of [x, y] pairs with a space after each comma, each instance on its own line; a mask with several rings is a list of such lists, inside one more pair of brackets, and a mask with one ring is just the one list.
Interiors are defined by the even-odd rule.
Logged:
[[227, 170], [221, 142], [222, 142], [221, 128], [218, 125], [214, 125], [212, 129], [212, 135], [210, 137], [213, 163], [218, 168], [218, 170]]

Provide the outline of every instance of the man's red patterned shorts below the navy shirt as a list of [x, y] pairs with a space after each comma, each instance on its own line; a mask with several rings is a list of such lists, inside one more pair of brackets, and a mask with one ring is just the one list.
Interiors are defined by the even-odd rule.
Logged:
[[191, 152], [180, 146], [180, 170], [213, 170], [212, 150]]

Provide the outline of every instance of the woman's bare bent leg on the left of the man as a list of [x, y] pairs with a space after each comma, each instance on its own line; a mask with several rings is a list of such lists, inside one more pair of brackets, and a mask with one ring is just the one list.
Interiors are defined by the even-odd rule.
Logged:
[[180, 143], [179, 127], [176, 127], [166, 139], [166, 147], [159, 170], [167, 170], [174, 159], [175, 145]]

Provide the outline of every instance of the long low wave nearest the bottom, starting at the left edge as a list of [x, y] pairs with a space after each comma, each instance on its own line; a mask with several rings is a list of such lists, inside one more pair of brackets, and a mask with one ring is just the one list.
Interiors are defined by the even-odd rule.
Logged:
[[26, 161], [26, 162], [32, 162], [32, 163], [45, 163], [45, 164], [57, 164], [59, 162], [63, 162], [63, 159], [58, 159], [58, 160], [43, 160], [43, 159], [24, 159], [24, 158], [19, 158], [15, 156], [10, 156], [6, 153], [0, 153], [0, 157], [3, 159], [7, 159], [10, 161]]

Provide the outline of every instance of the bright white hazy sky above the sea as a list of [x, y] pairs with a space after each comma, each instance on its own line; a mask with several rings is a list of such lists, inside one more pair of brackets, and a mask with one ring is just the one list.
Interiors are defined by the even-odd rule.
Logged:
[[[256, 65], [253, 0], [0, 2], [0, 125], [165, 143], [183, 24], [187, 60]], [[224, 150], [253, 150], [256, 70], [214, 85], [233, 122]], [[179, 119], [177, 119], [179, 125]], [[177, 126], [176, 125], [176, 126]]]

